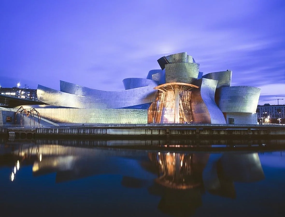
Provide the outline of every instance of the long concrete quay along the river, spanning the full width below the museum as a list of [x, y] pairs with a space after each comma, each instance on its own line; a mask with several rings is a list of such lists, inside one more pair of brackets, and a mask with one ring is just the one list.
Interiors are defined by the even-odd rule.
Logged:
[[211, 125], [211, 124], [144, 124], [144, 125], [69, 125], [59, 127], [0, 127], [0, 133], [31, 133], [33, 137], [284, 137], [280, 125]]

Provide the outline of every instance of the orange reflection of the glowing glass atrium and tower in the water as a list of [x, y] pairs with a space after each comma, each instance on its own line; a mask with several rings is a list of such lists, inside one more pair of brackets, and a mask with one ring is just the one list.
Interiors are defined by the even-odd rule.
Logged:
[[161, 196], [158, 209], [173, 216], [190, 216], [202, 205], [203, 168], [209, 158], [208, 153], [185, 154], [158, 152], [149, 153], [151, 167], [158, 178], [149, 192]]

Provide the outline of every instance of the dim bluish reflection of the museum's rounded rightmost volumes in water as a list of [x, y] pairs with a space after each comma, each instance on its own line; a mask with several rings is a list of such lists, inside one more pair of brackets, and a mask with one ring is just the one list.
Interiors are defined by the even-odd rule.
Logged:
[[234, 182], [264, 179], [258, 153], [211, 154], [203, 171], [205, 189], [212, 194], [235, 198]]

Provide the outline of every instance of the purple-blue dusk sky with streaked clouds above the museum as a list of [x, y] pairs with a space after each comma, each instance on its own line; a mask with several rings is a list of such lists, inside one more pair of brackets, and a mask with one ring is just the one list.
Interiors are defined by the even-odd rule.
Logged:
[[261, 88], [259, 104], [285, 99], [284, 0], [2, 0], [0, 19], [3, 87], [123, 90], [187, 51], [204, 74], [231, 69], [232, 86]]

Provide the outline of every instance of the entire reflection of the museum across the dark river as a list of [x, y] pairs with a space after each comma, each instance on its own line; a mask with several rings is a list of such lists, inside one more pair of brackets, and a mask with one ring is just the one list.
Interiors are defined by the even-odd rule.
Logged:
[[20, 163], [21, 167], [32, 165], [35, 178], [56, 173], [56, 183], [99, 174], [121, 175], [123, 187], [147, 189], [150, 195], [160, 197], [157, 208], [172, 216], [194, 214], [203, 205], [202, 196], [206, 192], [236, 198], [235, 182], [264, 179], [257, 153], [158, 152], [60, 145], [24, 145], [8, 152], [0, 157], [9, 156], [3, 165], [13, 165], [11, 181], [21, 172]]

